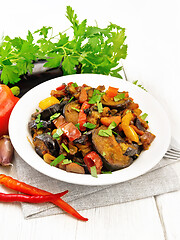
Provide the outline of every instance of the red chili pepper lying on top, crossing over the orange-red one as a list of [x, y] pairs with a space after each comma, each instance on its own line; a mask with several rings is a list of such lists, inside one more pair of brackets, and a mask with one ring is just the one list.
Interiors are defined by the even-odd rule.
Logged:
[[64, 191], [62, 193], [57, 194], [49, 194], [49, 195], [37, 195], [37, 196], [29, 196], [24, 194], [5, 194], [0, 193], [0, 202], [28, 202], [28, 203], [44, 203], [55, 201], [58, 198], [64, 196], [68, 191]]

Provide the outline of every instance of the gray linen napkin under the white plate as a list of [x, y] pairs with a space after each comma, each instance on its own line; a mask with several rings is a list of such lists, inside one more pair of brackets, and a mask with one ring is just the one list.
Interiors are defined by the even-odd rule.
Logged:
[[[21, 181], [52, 193], [69, 190], [63, 199], [76, 210], [103, 207], [180, 189], [178, 176], [170, 166], [170, 159], [162, 159], [151, 171], [133, 180], [111, 186], [82, 186], [54, 180], [31, 168], [16, 153], [14, 165]], [[26, 219], [64, 213], [51, 203], [22, 203]]]

